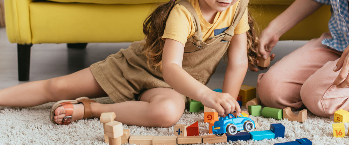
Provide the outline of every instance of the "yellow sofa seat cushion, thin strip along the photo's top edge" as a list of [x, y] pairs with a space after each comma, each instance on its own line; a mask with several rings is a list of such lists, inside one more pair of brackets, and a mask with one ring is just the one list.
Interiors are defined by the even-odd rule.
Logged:
[[[55, 2], [80, 2], [80, 3], [99, 3], [99, 4], [141, 4], [168, 2], [169, 0], [50, 0]], [[252, 4], [259, 5], [291, 5], [295, 0], [250, 0]]]

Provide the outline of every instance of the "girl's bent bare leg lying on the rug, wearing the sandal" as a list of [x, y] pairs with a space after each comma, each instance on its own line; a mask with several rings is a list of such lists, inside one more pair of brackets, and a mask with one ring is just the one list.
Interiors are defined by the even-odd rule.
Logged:
[[[115, 112], [115, 120], [124, 124], [171, 127], [180, 119], [185, 108], [183, 97], [169, 88], [150, 89], [142, 95], [140, 100], [115, 104], [91, 103], [91, 115], [99, 118], [103, 112]], [[58, 117], [57, 123], [60, 123], [64, 115]]]

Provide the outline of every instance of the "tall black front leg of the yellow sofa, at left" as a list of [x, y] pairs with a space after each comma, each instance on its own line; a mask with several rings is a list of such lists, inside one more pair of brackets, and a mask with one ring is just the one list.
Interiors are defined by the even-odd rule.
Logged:
[[32, 44], [17, 44], [18, 80], [29, 80], [30, 47]]

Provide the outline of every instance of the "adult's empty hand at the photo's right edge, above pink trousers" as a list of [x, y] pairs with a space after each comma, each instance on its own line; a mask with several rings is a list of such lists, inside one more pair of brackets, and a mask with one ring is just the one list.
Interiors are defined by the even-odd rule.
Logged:
[[[337, 78], [333, 82], [333, 86], [337, 88], [344, 88], [349, 85], [349, 77], [348, 77], [348, 72], [349, 72], [349, 46], [347, 46], [346, 49], [344, 49], [342, 56], [339, 58], [336, 66], [334, 66], [333, 71], [339, 71], [339, 74]], [[345, 79], [345, 80], [344, 80]]]

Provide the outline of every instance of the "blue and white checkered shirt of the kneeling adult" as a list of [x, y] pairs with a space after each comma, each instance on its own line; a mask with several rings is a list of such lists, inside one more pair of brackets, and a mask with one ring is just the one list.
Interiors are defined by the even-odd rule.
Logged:
[[338, 51], [344, 51], [349, 44], [349, 15], [348, 0], [314, 0], [319, 3], [331, 5], [331, 18], [328, 22], [328, 29], [333, 39], [324, 39], [322, 44]]

